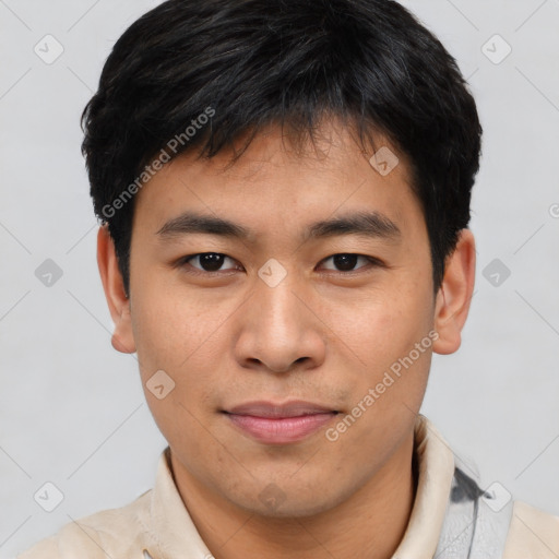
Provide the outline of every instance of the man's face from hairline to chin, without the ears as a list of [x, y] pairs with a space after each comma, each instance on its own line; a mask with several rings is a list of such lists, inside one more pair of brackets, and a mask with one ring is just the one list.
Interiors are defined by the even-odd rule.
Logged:
[[270, 128], [229, 167], [185, 154], [134, 210], [120, 334], [176, 475], [269, 515], [325, 511], [401, 460], [438, 336], [405, 157], [379, 143], [400, 158], [382, 176], [323, 132], [296, 154]]

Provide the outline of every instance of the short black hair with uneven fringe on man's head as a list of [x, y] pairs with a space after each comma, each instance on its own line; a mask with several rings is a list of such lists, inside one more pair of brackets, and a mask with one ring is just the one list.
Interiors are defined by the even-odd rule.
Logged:
[[364, 147], [382, 133], [409, 159], [437, 290], [469, 223], [481, 126], [456, 61], [411, 12], [392, 0], [168, 0], [135, 21], [82, 115], [94, 209], [127, 294], [150, 162], [212, 157], [243, 136], [236, 160], [266, 126], [312, 139], [332, 117]]

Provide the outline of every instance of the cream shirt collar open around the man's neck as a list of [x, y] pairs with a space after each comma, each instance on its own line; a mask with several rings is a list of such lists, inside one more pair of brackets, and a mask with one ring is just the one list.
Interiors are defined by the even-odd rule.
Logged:
[[[433, 425], [423, 415], [415, 424], [414, 452], [418, 487], [409, 522], [393, 559], [431, 559], [437, 550], [454, 474], [454, 455]], [[209, 559], [212, 557], [198, 533], [170, 468], [167, 447], [157, 467], [150, 503], [153, 559]]]

